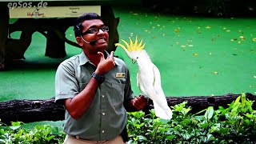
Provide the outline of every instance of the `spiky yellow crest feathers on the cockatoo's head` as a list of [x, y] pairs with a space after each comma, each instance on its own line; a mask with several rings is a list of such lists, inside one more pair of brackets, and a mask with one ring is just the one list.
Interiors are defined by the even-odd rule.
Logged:
[[129, 37], [130, 43], [126, 42], [125, 40], [121, 39], [122, 42], [126, 44], [126, 46], [122, 45], [121, 43], [115, 43], [114, 46], [121, 46], [122, 49], [126, 49], [129, 52], [134, 51], [134, 50], [143, 50], [144, 46], [146, 43], [142, 45], [142, 40], [141, 42], [138, 43], [137, 37], [135, 38], [135, 42], [132, 41], [132, 39]]

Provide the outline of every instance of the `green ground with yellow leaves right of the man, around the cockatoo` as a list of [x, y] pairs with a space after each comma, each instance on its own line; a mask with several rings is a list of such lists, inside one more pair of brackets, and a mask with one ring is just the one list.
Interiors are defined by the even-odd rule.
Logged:
[[[115, 9], [120, 38], [142, 38], [166, 96], [255, 94], [256, 18], [199, 18]], [[137, 66], [124, 51], [135, 86]], [[136, 91], [138, 93], [138, 90]]]

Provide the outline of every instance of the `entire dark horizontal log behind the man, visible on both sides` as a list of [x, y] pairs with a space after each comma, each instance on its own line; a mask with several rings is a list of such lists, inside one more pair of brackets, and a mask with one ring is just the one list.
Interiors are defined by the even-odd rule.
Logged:
[[[174, 106], [182, 102], [188, 102], [186, 106], [191, 106], [191, 113], [196, 113], [206, 109], [208, 106], [227, 107], [228, 104], [238, 98], [240, 94], [226, 94], [222, 96], [192, 96], [192, 97], [167, 97], [169, 106]], [[256, 100], [255, 95], [247, 93], [246, 98]], [[256, 107], [254, 103], [253, 108]], [[153, 109], [154, 106], [149, 101], [145, 112]], [[10, 122], [40, 122], [40, 121], [60, 121], [64, 120], [65, 110], [62, 105], [54, 103], [54, 98], [42, 100], [12, 100], [0, 102], [1, 122], [10, 125]]]

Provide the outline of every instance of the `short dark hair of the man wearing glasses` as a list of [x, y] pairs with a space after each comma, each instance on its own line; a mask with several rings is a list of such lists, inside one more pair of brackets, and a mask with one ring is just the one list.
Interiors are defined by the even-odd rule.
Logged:
[[81, 16], [79, 16], [74, 25], [74, 36], [75, 37], [79, 37], [82, 34], [82, 29], [83, 29], [82, 22], [84, 22], [86, 20], [91, 20], [91, 19], [102, 20], [102, 17], [96, 13], [85, 13], [85, 14], [82, 14]]

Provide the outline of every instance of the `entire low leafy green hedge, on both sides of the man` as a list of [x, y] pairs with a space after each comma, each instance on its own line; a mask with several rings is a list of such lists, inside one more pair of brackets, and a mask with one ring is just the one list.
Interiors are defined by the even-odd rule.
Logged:
[[[170, 121], [155, 117], [143, 111], [128, 113], [127, 130], [130, 144], [137, 143], [256, 143], [256, 113], [253, 101], [246, 94], [239, 96], [229, 107], [212, 106], [197, 114], [191, 114], [191, 107], [182, 102], [172, 106]], [[0, 126], [3, 125], [0, 123]], [[62, 143], [66, 134], [49, 125], [23, 129], [22, 122], [2, 126], [0, 143]]]

